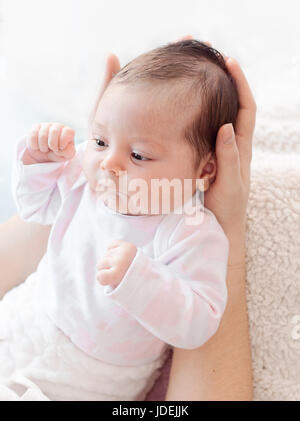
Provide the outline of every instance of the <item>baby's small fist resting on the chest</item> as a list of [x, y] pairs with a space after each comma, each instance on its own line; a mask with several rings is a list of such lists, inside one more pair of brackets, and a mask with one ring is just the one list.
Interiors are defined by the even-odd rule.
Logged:
[[136, 252], [136, 246], [127, 241], [115, 240], [110, 243], [97, 265], [97, 280], [100, 284], [112, 287], [119, 285]]

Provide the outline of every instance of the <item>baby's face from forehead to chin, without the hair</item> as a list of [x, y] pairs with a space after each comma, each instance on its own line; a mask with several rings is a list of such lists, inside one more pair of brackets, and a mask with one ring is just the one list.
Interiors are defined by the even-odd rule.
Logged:
[[[90, 188], [108, 207], [129, 215], [168, 213], [166, 200], [173, 210], [196, 189], [191, 180], [190, 187], [184, 187], [184, 179], [197, 178], [193, 149], [182, 138], [191, 109], [178, 112], [163, 94], [151, 92], [145, 87], [109, 86], [99, 102], [84, 156]], [[161, 179], [167, 180], [166, 190], [157, 195]], [[168, 189], [175, 179], [176, 194], [174, 188]]]

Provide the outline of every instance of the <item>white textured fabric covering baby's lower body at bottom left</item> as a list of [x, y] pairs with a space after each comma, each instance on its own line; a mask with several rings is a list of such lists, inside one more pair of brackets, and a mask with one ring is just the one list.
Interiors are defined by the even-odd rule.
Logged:
[[41, 311], [37, 273], [0, 301], [0, 401], [144, 400], [167, 354], [118, 366], [88, 356]]

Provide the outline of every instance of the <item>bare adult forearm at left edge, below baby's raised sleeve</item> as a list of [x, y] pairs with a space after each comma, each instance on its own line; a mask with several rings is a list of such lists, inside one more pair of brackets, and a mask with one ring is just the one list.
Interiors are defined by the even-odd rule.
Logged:
[[0, 225], [0, 299], [36, 269], [50, 228], [25, 222], [18, 215]]

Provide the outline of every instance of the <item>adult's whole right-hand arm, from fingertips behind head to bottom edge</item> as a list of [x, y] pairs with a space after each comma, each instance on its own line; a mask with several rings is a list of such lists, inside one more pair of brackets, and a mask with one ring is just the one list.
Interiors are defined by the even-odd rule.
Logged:
[[[235, 133], [231, 125], [219, 129], [216, 179], [204, 203], [216, 215], [230, 243], [228, 302], [217, 333], [207, 343], [195, 350], [174, 349], [166, 401], [253, 399], [245, 226], [256, 105], [239, 64], [226, 57], [225, 62], [237, 84], [240, 108]], [[232, 141], [224, 144], [228, 139]]]

